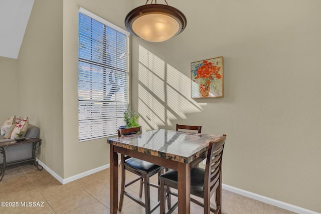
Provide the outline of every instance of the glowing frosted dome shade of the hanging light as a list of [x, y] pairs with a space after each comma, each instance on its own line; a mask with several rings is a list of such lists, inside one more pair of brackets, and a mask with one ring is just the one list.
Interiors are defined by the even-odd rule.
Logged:
[[147, 14], [138, 17], [132, 24], [132, 30], [143, 40], [163, 42], [172, 38], [180, 30], [178, 22], [163, 14]]

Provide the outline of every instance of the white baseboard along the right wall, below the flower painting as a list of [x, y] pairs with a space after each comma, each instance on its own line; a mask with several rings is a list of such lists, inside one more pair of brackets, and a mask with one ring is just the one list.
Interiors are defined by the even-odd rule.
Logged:
[[292, 211], [292, 212], [299, 213], [299, 214], [320, 214], [319, 212], [311, 211], [311, 210], [308, 210], [308, 209], [305, 209], [305, 208], [302, 208], [302, 207], [299, 207], [299, 206], [295, 206], [295, 205], [292, 205], [292, 204], [289, 204], [289, 203], [285, 203], [285, 202], [282, 202], [282, 201], [279, 201], [279, 200], [275, 200], [275, 199], [272, 199], [272, 198], [269, 198], [269, 197], [265, 197], [263, 195], [259, 195], [259, 194], [256, 194], [256, 193], [253, 193], [253, 192], [249, 192], [249, 191], [246, 191], [246, 190], [243, 190], [243, 189], [239, 189], [239, 188], [236, 188], [236, 187], [233, 187], [233, 186], [229, 186], [229, 185], [226, 185], [226, 184], [222, 184], [222, 188], [225, 189], [225, 190], [228, 190], [228, 191], [231, 191], [231, 192], [234, 192], [234, 193], [249, 197], [249, 198], [253, 198], [255, 200], [262, 201], [264, 203], [271, 204], [273, 206], [277, 206], [277, 207], [280, 207], [280, 208], [283, 208], [283, 209], [286, 209], [286, 210], [289, 210], [289, 211]]

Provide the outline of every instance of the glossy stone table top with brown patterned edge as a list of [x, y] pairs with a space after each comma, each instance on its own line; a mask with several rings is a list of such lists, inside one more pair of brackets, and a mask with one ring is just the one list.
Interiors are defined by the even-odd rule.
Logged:
[[110, 138], [108, 143], [153, 156], [190, 163], [207, 151], [210, 141], [215, 141], [221, 136], [156, 129]]

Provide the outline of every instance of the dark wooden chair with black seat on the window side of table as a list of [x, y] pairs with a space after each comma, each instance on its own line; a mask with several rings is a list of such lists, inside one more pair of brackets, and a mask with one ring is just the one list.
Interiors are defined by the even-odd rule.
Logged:
[[[118, 132], [119, 137], [125, 136], [125, 135], [130, 135], [130, 134], [135, 134], [137, 132], [141, 132], [141, 126], [135, 127], [135, 128], [118, 129], [117, 132]], [[158, 185], [156, 185], [156, 184], [149, 182], [149, 177], [151, 177], [152, 175], [154, 175], [156, 173], [158, 173], [158, 177], [159, 177], [159, 175], [161, 175], [161, 173], [164, 172], [165, 167], [158, 166], [153, 163], [150, 163], [150, 162], [147, 162], [144, 160], [140, 160], [137, 158], [133, 158], [130, 156], [125, 156], [123, 154], [121, 154], [120, 165], [121, 165], [121, 189], [120, 189], [120, 199], [119, 199], [118, 210], [121, 211], [122, 204], [124, 201], [124, 195], [126, 195], [127, 197], [131, 198], [133, 201], [135, 201], [138, 204], [140, 204], [141, 206], [145, 207], [146, 214], [151, 213], [160, 204], [160, 201], [159, 201], [160, 193], [159, 193], [159, 178], [158, 178]], [[138, 175], [139, 177], [134, 180], [131, 180], [128, 183], [125, 183], [126, 170]], [[142, 184], [144, 184], [144, 193], [145, 193], [145, 201], [144, 202], [141, 199], [134, 197], [133, 195], [131, 195], [129, 192], [127, 192], [125, 190], [125, 187], [135, 183], [138, 180], [140, 180], [140, 187], [139, 187], [139, 197], [140, 198], [142, 196]], [[150, 207], [149, 186], [153, 186], [153, 187], [158, 188], [158, 203], [156, 203], [152, 208]]]

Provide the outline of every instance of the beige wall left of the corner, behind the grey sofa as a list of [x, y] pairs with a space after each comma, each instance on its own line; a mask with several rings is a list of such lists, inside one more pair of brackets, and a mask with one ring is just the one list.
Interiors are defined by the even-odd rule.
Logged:
[[39, 159], [63, 177], [62, 0], [36, 0], [18, 57], [18, 106], [40, 127]]

